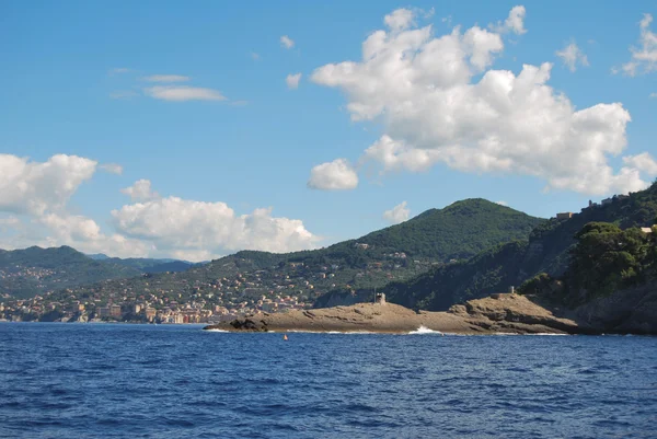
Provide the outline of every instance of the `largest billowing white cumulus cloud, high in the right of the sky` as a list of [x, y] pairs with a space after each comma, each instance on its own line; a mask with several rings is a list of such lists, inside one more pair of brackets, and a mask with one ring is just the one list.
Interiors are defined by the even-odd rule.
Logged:
[[[521, 33], [517, 19], [525, 10], [515, 10], [505, 25]], [[360, 61], [322, 66], [311, 81], [344, 91], [353, 120], [382, 125], [359, 161], [381, 173], [441, 163], [531, 175], [546, 189], [591, 195], [647, 186], [641, 169], [625, 164], [615, 172], [609, 164], [626, 148], [631, 117], [621, 103], [577, 109], [549, 85], [550, 62], [523, 65], [518, 73], [491, 69], [503, 49], [499, 33], [479, 26], [440, 36], [431, 26], [377, 31], [364, 42]]]

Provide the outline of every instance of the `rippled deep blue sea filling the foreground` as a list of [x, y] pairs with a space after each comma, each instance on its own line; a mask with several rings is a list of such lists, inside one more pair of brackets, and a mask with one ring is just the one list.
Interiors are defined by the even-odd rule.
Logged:
[[657, 337], [0, 323], [2, 438], [657, 438]]

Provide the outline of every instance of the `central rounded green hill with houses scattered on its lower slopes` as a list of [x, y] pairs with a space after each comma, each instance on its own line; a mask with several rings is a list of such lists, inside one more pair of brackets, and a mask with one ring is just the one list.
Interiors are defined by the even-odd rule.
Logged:
[[184, 273], [101, 282], [77, 288], [74, 293], [105, 297], [126, 291], [128, 297], [139, 297], [158, 291], [176, 301], [210, 294], [220, 304], [229, 297], [243, 300], [286, 291], [312, 302], [333, 289], [383, 287], [491, 245], [527, 239], [543, 221], [491, 201], [468, 199], [325, 249], [287, 254], [242, 251]]

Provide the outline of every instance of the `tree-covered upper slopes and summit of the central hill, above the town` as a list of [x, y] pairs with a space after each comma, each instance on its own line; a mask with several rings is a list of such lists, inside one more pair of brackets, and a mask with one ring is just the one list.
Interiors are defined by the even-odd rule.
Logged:
[[274, 265], [283, 267], [287, 263], [365, 269], [372, 263], [394, 258], [395, 253], [403, 253], [404, 258], [408, 259], [448, 263], [470, 257], [499, 243], [527, 239], [543, 222], [544, 219], [485, 199], [465, 199], [325, 249], [287, 254], [243, 251], [214, 261], [203, 269], [222, 274], [218, 267], [235, 264], [235, 268], [264, 269]]

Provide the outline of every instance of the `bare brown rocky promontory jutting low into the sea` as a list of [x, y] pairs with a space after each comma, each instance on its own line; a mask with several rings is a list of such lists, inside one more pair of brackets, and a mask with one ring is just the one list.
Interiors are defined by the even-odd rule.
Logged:
[[[262, 313], [206, 326], [231, 332], [408, 333], [420, 327], [448, 334], [578, 334], [591, 328], [557, 316], [525, 296], [493, 294], [446, 312], [413, 311], [393, 303], [357, 303], [285, 313]], [[561, 315], [561, 314], [560, 314]]]

